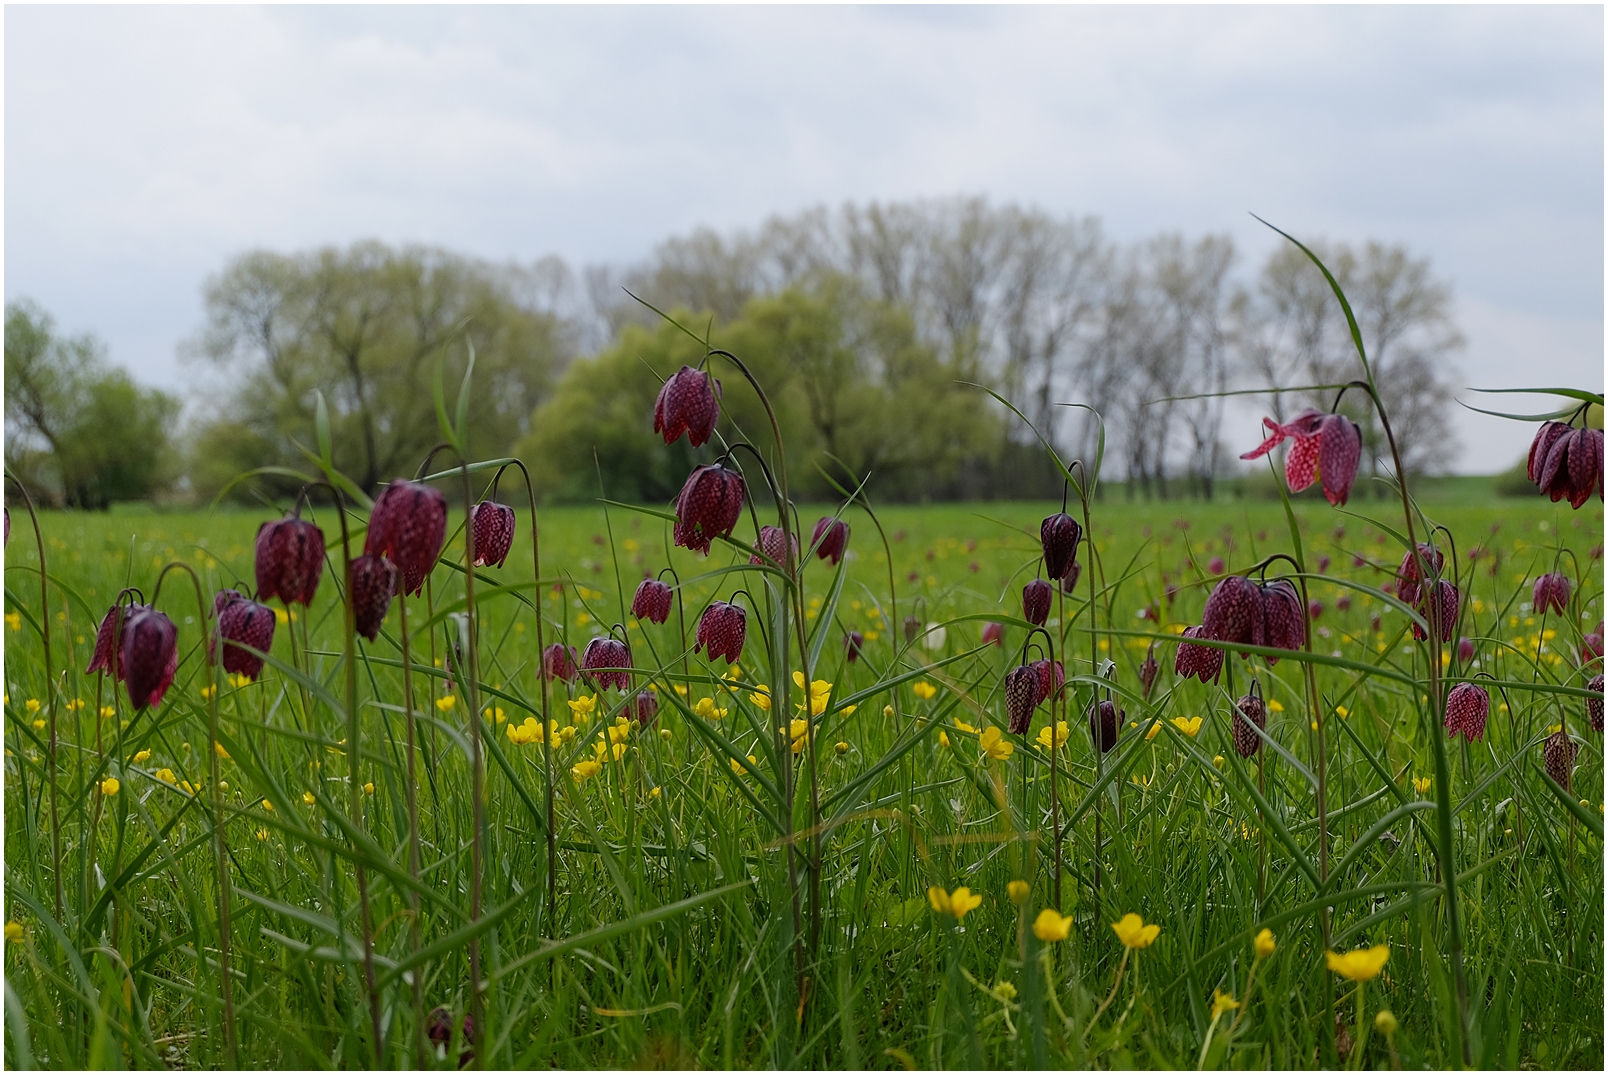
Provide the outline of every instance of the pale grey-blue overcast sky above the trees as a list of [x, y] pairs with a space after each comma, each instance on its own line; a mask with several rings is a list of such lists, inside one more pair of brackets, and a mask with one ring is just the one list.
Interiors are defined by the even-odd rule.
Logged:
[[[6, 299], [175, 390], [252, 247], [630, 262], [957, 193], [1225, 231], [1245, 273], [1248, 211], [1404, 243], [1455, 286], [1457, 384], [1603, 382], [1598, 6], [8, 6], [5, 154]], [[1458, 431], [1463, 471], [1529, 437]]]

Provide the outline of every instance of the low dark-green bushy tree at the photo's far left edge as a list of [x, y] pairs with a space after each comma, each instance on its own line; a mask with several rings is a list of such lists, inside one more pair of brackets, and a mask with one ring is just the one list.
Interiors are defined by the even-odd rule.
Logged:
[[48, 500], [105, 509], [172, 477], [178, 400], [106, 363], [93, 336], [59, 337], [29, 300], [5, 312], [6, 461]]

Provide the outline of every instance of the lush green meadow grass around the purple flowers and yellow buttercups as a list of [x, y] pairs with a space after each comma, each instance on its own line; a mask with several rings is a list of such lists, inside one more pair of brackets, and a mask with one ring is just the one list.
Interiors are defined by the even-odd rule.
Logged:
[[[1600, 553], [1590, 559], [1603, 532], [1600, 501], [1574, 513], [1542, 500], [1489, 500], [1483, 487], [1454, 484], [1421, 503], [1455, 535], [1470, 598], [1462, 633], [1476, 640], [1478, 670], [1515, 685], [1581, 686], [1579, 641], [1595, 630], [1603, 604]], [[1314, 882], [1315, 795], [1302, 776], [1302, 768], [1317, 768], [1319, 738], [1304, 702], [1302, 664], [1285, 659], [1269, 667], [1261, 657], [1233, 657], [1225, 681], [1206, 686], [1172, 675], [1174, 644], [1163, 641], [1155, 691], [1148, 702], [1138, 696], [1145, 635], [1171, 636], [1200, 622], [1209, 590], [1201, 580], [1214, 556], [1232, 572], [1269, 553], [1293, 551], [1283, 508], [1256, 498], [1129, 503], [1121, 495], [1093, 505], [1100, 570], [1110, 587], [1098, 632], [1090, 632], [1085, 607], [1095, 570], [1087, 550], [1085, 582], [1076, 599], [1052, 609], [1050, 625], [1060, 649], [1060, 617], [1068, 620], [1071, 680], [1066, 712], [1056, 713], [1071, 725], [1056, 762], [1058, 815], [1064, 821], [1077, 813], [1060, 879], [1048, 754], [1034, 742], [1050, 720], [1048, 707], [1036, 712], [1031, 734], [1016, 739], [1003, 762], [979, 760], [976, 736], [958, 726], [1003, 726], [1000, 681], [1018, 664], [1026, 633], [1008, 623], [1003, 648], [979, 651], [982, 622], [965, 617], [1019, 620], [1021, 587], [1037, 569], [1037, 525], [1056, 508], [881, 511], [892, 595], [876, 530], [859, 509], [846, 514], [854, 559], [841, 595], [833, 596], [830, 566], [812, 561], [804, 572], [807, 627], [822, 615], [831, 620], [817, 665], [817, 678], [835, 685], [833, 712], [815, 736], [817, 815], [810, 752], [788, 757], [775, 749], [783, 688], [790, 710], [802, 694], [772, 675], [778, 622], [764, 620], [762, 636], [761, 575], [711, 574], [746, 561], [730, 546], [716, 546], [709, 559], [671, 550], [667, 525], [653, 516], [556, 508], [542, 513], [540, 537], [544, 578], [563, 582], [561, 596], [547, 582], [519, 588], [532, 580], [529, 516], [521, 511], [508, 566], [482, 570], [476, 582], [479, 689], [490, 694], [486, 705], [502, 707], [507, 718], [500, 723], [492, 713], [482, 725], [481, 903], [495, 921], [478, 934], [481, 975], [489, 980], [474, 1035], [478, 1059], [490, 1067], [1190, 1067], [1209, 1035], [1208, 1067], [1333, 1064], [1336, 1020], [1352, 1038], [1359, 1033], [1357, 990], [1325, 967], [1317, 913], [1325, 900]], [[1402, 550], [1383, 527], [1399, 527], [1401, 519], [1391, 514], [1393, 501], [1360, 498], [1351, 505], [1354, 516], [1312, 500], [1296, 501], [1294, 511], [1309, 569], [1317, 570], [1319, 556], [1330, 558], [1328, 578], [1311, 583], [1311, 596], [1325, 606], [1314, 651], [1367, 668], [1312, 665], [1325, 717], [1331, 946], [1391, 951], [1383, 975], [1365, 987], [1367, 1036], [1349, 1064], [1386, 1067], [1399, 1057], [1404, 1067], [1455, 1065], [1434, 811], [1412, 807], [1433, 805], [1434, 795], [1413, 783], [1433, 776], [1430, 736], [1439, 734], [1439, 715], [1426, 712], [1417, 686], [1426, 648], [1405, 636], [1401, 611], [1373, 596], [1349, 590], [1349, 611], [1336, 606], [1348, 593], [1343, 582], [1380, 587], [1391, 578]], [[317, 514], [334, 546], [338, 524], [330, 509]], [[806, 530], [815, 514], [806, 513]], [[219, 1067], [232, 1059], [220, 1003], [209, 802], [156, 779], [167, 768], [177, 781], [209, 781], [201, 691], [207, 665], [188, 582], [170, 574], [159, 598], [178, 625], [182, 657], [161, 705], [129, 712], [125, 696], [82, 670], [117, 590], [138, 585], [150, 598], [169, 561], [201, 572], [207, 607], [217, 588], [251, 583], [252, 535], [265, 517], [47, 514], [53, 694], [39, 635], [37, 553], [27, 517], [13, 516], [5, 858], [6, 916], [23, 926], [21, 940], [6, 945], [13, 1067]], [[748, 519], [738, 533], [751, 540]], [[1470, 564], [1475, 545], [1486, 554]], [[1531, 615], [1520, 607], [1529, 599], [1529, 580], [1553, 569], [1558, 550], [1576, 558], [1563, 559], [1576, 582], [1571, 612]], [[449, 540], [444, 561], [461, 564], [460, 535]], [[415, 951], [399, 619], [392, 606], [379, 641], [359, 644], [357, 778], [375, 789], [362, 795], [357, 839], [347, 818], [351, 757], [343, 744], [339, 562], [336, 548], [310, 612], [304, 617], [296, 607], [294, 623], [281, 623], [278, 664], [260, 681], [225, 685], [219, 694], [220, 739], [230, 754], [220, 773], [228, 784], [224, 836], [240, 1065], [413, 1062], [418, 1024], [410, 979], [388, 969]], [[600, 623], [627, 622], [637, 580], [666, 564], [685, 583], [688, 636], [711, 598], [728, 599], [738, 585], [761, 596], [741, 680], [722, 680], [725, 662], [711, 667], [698, 656], [683, 672], [674, 614], [662, 627], [627, 623], [637, 667], [653, 673], [661, 715], [650, 731], [626, 739], [621, 760], [605, 762], [592, 778], [571, 775], [572, 766], [593, 757], [593, 741], [606, 742], [622, 696], [601, 693], [590, 715], [571, 720], [564, 702], [592, 691], [556, 685], [552, 715], [577, 733], [553, 752], [558, 871], [550, 913], [544, 747], [518, 746], [507, 734], [508, 725], [542, 709], [531, 603], [540, 595], [548, 640], [561, 632], [579, 646]], [[1177, 587], [1171, 603], [1169, 583]], [[445, 614], [461, 595], [461, 570], [444, 562], [429, 593], [439, 619], [420, 630], [429, 611], [420, 601], [408, 607], [416, 632], [416, 792], [428, 893], [418, 922], [428, 956], [420, 961], [421, 996], [425, 1009], [444, 1004], [458, 1016], [471, 1006], [468, 705], [466, 685], [447, 678], [441, 665]], [[1138, 617], [1151, 604], [1159, 623]], [[902, 643], [900, 620], [912, 612], [947, 623], [939, 649]], [[1381, 614], [1378, 632], [1370, 625], [1375, 614]], [[843, 659], [849, 628], [867, 638], [857, 664]], [[1119, 747], [1100, 766], [1082, 718], [1095, 656], [1114, 662], [1126, 709]], [[796, 640], [790, 662], [798, 665]], [[933, 667], [923, 667], [928, 662]], [[304, 670], [317, 689], [304, 689], [289, 668]], [[1454, 680], [1468, 672], [1450, 667]], [[1251, 676], [1278, 702], [1267, 731], [1290, 755], [1264, 750], [1261, 770], [1257, 758], [1241, 762], [1229, 738], [1232, 699]], [[757, 683], [772, 688], [772, 713], [751, 701], [748, 688]], [[936, 688], [929, 697], [928, 686]], [[687, 689], [685, 699], [677, 688]], [[703, 731], [677, 704], [696, 705], [701, 697], [727, 710]], [[836, 710], [851, 697], [852, 713]], [[1458, 739], [1452, 750], [1470, 1056], [1487, 1067], [1600, 1069], [1602, 738], [1587, 728], [1579, 696], [1510, 686], [1505, 697], [1512, 712], [1492, 691], [1484, 741], [1463, 747]], [[84, 705], [69, 709], [76, 699]], [[114, 713], [98, 718], [101, 707]], [[51, 715], [59, 741], [55, 791]], [[1171, 723], [1185, 717], [1203, 718], [1193, 738]], [[1573, 776], [1582, 818], [1539, 775], [1539, 741], [1563, 717], [1582, 744]], [[43, 730], [35, 728], [39, 720]], [[1156, 734], [1147, 741], [1151, 726]], [[756, 755], [757, 775], [733, 773], [717, 736], [740, 757]], [[150, 757], [132, 762], [146, 750]], [[790, 775], [791, 813], [778, 805], [780, 792], [767, 791], [783, 787]], [[108, 776], [121, 783], [114, 795], [98, 791]], [[1097, 787], [1101, 778], [1110, 779]], [[841, 823], [822, 834], [814, 885], [796, 863], [802, 934], [796, 942], [788, 847], [809, 856], [814, 816]], [[783, 832], [802, 836], [790, 842]], [[384, 1035], [378, 1057], [357, 866], [370, 901]], [[1021, 908], [1007, 897], [1013, 879], [1032, 885]], [[1064, 942], [1040, 945], [1031, 922], [1053, 903], [1056, 881], [1060, 909], [1073, 924]], [[957, 924], [929, 908], [931, 885], [968, 885], [982, 903]], [[815, 890], [818, 906], [810, 905]], [[1159, 924], [1161, 934], [1124, 964], [1111, 924], [1126, 913]], [[1275, 934], [1277, 950], [1256, 961], [1251, 938], [1262, 927]], [[555, 942], [564, 943], [553, 948]], [[997, 988], [1002, 983], [1010, 988]], [[1243, 1003], [1216, 1025], [1214, 990]], [[1108, 995], [1110, 1006], [1093, 1019]], [[1373, 1030], [1380, 1008], [1397, 1019], [1389, 1041]], [[431, 1062], [450, 1069], [457, 1057]]]

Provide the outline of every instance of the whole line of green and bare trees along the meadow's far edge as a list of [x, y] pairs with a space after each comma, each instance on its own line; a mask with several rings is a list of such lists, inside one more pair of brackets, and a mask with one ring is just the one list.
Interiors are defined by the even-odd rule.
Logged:
[[[1463, 342], [1450, 284], [1401, 246], [1315, 246], [1356, 302], [1407, 466], [1444, 468], [1457, 452], [1447, 358]], [[1106, 474], [1129, 495], [1212, 497], [1237, 471], [1224, 392], [1278, 390], [1267, 407], [1283, 418], [1333, 400], [1285, 389], [1354, 376], [1344, 317], [1299, 251], [1275, 247], [1249, 275], [1240, 260], [1229, 236], [1119, 243], [1095, 217], [979, 198], [704, 228], [626, 267], [381, 243], [257, 251], [204, 284], [183, 349], [215, 387], [182, 431], [170, 397], [11, 304], [6, 456], [58, 503], [175, 482], [211, 498], [241, 471], [299, 468], [322, 394], [338, 466], [373, 488], [436, 442], [434, 381], [455, 384], [473, 347], [476, 453], [521, 455], [548, 498], [662, 500], [691, 450], [654, 448], [643, 415], [708, 339], [777, 386], [807, 493], [867, 476], [884, 500], [1056, 493], [1032, 432], [974, 387], [987, 386], [1068, 455], [1092, 458], [1100, 429], [1063, 403], [1103, 415]], [[714, 362], [722, 435], [746, 440], [765, 421], [757, 399]], [[1352, 416], [1373, 466], [1381, 432], [1365, 410]]]

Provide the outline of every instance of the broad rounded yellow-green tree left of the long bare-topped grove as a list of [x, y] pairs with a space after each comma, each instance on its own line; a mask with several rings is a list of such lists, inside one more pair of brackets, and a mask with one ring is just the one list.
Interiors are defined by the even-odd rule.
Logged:
[[437, 370], [445, 363], [455, 389], [470, 344], [473, 450], [507, 452], [572, 349], [566, 325], [523, 283], [513, 267], [381, 243], [236, 259], [207, 281], [207, 321], [191, 345], [235, 384], [195, 431], [198, 492], [254, 466], [301, 466], [318, 392], [336, 466], [370, 490], [410, 476], [439, 440]]

